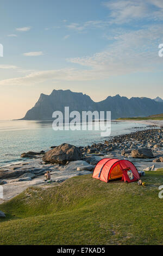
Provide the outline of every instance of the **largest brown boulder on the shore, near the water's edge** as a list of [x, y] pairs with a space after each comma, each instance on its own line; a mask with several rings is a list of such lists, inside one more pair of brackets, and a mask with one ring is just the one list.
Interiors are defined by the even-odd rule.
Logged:
[[67, 143], [47, 151], [43, 155], [42, 160], [51, 163], [66, 164], [67, 161], [76, 161], [82, 158], [82, 153], [79, 148]]

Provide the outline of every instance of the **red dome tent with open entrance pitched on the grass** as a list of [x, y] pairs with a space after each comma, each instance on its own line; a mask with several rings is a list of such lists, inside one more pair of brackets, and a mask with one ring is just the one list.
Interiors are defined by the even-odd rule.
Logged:
[[125, 182], [133, 182], [140, 179], [140, 175], [134, 166], [128, 160], [109, 159], [100, 160], [93, 171], [93, 178], [109, 182], [122, 178]]

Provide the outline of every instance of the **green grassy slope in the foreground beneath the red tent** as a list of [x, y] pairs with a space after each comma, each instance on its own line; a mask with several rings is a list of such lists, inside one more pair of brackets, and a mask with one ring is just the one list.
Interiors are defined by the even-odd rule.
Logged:
[[161, 245], [163, 171], [126, 184], [77, 176], [30, 187], [0, 210], [0, 245]]

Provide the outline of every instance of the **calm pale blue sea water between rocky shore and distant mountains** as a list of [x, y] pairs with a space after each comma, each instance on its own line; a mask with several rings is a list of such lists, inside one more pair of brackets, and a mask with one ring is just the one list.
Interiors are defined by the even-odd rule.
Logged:
[[[93, 123], [93, 127], [96, 123]], [[142, 127], [146, 125], [112, 121], [111, 136], [130, 133]], [[0, 168], [26, 161], [20, 156], [27, 151], [46, 151], [49, 147], [61, 143], [85, 146], [103, 142], [107, 138], [101, 137], [101, 131], [96, 130], [54, 131], [52, 121], [0, 121]]]

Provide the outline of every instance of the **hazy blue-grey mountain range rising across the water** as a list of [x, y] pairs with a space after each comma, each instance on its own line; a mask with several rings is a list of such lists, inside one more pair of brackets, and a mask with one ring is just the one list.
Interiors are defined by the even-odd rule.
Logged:
[[23, 120], [52, 120], [54, 111], [64, 113], [65, 107], [71, 111], [111, 111], [112, 118], [146, 116], [163, 113], [163, 102], [147, 97], [108, 96], [105, 100], [94, 102], [83, 93], [71, 90], [53, 90], [50, 95], [41, 94], [35, 106], [30, 109]]

